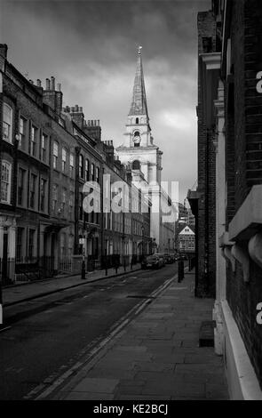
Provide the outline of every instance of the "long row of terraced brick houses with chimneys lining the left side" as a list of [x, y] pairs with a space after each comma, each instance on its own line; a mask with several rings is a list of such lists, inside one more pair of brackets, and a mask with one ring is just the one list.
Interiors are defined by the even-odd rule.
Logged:
[[112, 213], [111, 189], [107, 216], [103, 205], [83, 210], [87, 181], [98, 185], [103, 201], [105, 173], [111, 183], [123, 181], [131, 189], [131, 173], [115, 160], [114, 147], [101, 141], [99, 121], [86, 121], [78, 105], [63, 107], [53, 76], [45, 88], [39, 79], [34, 84], [22, 76], [7, 60], [5, 44], [0, 70], [2, 280], [77, 272], [83, 252], [97, 266], [108, 254], [131, 260], [145, 243], [149, 252], [150, 211], [141, 211], [145, 202], [139, 195], [137, 213]]

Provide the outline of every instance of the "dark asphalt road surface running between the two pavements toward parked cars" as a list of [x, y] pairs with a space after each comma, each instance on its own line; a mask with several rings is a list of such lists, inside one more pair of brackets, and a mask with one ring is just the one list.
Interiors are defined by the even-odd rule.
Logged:
[[176, 272], [177, 264], [135, 271], [5, 309], [11, 329], [0, 334], [0, 399], [22, 399], [65, 373]]

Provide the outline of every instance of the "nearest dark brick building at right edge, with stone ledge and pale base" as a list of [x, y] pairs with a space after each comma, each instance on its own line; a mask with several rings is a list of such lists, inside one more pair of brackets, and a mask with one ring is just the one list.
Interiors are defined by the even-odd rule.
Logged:
[[[262, 399], [262, 4], [227, 1], [221, 77], [225, 105], [226, 293], [220, 323], [226, 337], [226, 372], [234, 398]], [[240, 358], [241, 363], [239, 363]], [[242, 376], [240, 379], [239, 376]], [[260, 387], [259, 387], [260, 383]]]

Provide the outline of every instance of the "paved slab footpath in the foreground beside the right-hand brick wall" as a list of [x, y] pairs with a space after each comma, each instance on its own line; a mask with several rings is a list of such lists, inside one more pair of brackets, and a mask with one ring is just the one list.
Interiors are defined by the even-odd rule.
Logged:
[[223, 358], [199, 346], [212, 299], [196, 299], [195, 275], [177, 276], [102, 350], [45, 399], [224, 400]]

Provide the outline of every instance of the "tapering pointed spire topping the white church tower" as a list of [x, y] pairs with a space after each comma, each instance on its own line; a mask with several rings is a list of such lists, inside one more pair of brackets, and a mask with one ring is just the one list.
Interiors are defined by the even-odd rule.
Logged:
[[142, 56], [141, 56], [142, 46], [139, 46], [139, 55], [137, 60], [137, 69], [136, 76], [133, 87], [133, 97], [131, 101], [131, 109], [129, 116], [131, 115], [147, 115], [147, 97], [146, 89], [144, 82], [143, 66], [142, 66]]

